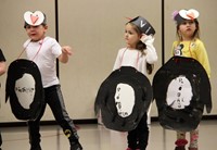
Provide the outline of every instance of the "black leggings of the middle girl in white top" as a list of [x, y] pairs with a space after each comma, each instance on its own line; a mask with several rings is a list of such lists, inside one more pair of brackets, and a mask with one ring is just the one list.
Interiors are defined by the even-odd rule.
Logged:
[[148, 115], [145, 113], [139, 122], [138, 126], [133, 130], [128, 132], [127, 139], [129, 148], [139, 148], [140, 150], [146, 149], [149, 140], [149, 127], [146, 124], [146, 118]]

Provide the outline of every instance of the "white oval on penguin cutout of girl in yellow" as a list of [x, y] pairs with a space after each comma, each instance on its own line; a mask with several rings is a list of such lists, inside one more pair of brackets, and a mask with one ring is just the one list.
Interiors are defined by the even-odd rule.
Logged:
[[184, 76], [178, 76], [168, 86], [166, 102], [173, 109], [180, 110], [190, 104], [192, 97], [192, 87], [189, 79]]

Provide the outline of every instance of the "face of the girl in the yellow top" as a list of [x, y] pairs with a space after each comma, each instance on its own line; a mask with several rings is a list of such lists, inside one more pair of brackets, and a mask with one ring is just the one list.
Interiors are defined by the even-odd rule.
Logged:
[[193, 34], [196, 29], [196, 25], [194, 21], [184, 21], [179, 25], [179, 34], [184, 39], [191, 39], [193, 37]]

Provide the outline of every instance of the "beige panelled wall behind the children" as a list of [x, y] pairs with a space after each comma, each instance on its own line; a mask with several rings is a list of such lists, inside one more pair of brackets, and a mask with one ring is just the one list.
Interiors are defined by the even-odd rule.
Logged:
[[[171, 42], [175, 39], [175, 25], [171, 12], [179, 9], [195, 8], [201, 12], [200, 23], [202, 39], [206, 43], [212, 63], [213, 99], [216, 98], [216, 74], [214, 67], [214, 40], [217, 36], [214, 25], [216, 1], [207, 0], [165, 0], [165, 60], [170, 57]], [[93, 103], [100, 84], [113, 68], [119, 48], [125, 47], [124, 27], [126, 17], [142, 15], [156, 29], [155, 47], [158, 62], [155, 71], [162, 65], [162, 1], [157, 0], [61, 0], [59, 1], [59, 41], [62, 46], [73, 47], [74, 54], [67, 64], [60, 64], [60, 80], [65, 98], [66, 109], [75, 120], [94, 118]], [[27, 39], [23, 28], [25, 11], [40, 10], [47, 14], [49, 30], [47, 35], [55, 37], [54, 1], [50, 0], [0, 0], [0, 47], [3, 50], [8, 65], [23, 50], [22, 45]], [[208, 17], [207, 17], [208, 16]], [[25, 55], [23, 55], [24, 58]], [[149, 76], [152, 79], [152, 76]], [[10, 104], [4, 102], [4, 85], [7, 74], [0, 77], [1, 122], [17, 122], [11, 113]], [[212, 114], [216, 114], [216, 102]], [[157, 116], [155, 104], [152, 116]], [[47, 108], [44, 121], [53, 120]]]

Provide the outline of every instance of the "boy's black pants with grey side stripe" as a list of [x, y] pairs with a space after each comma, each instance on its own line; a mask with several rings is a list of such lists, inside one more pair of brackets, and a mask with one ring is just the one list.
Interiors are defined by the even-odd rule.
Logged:
[[38, 145], [40, 142], [39, 125], [40, 125], [40, 118], [44, 113], [47, 103], [51, 108], [55, 121], [63, 128], [63, 132], [68, 137], [68, 139], [71, 141], [77, 140], [78, 139], [77, 130], [75, 128], [73, 120], [69, 118], [65, 110], [65, 104], [63, 101], [63, 96], [61, 92], [60, 85], [44, 88], [44, 101], [46, 104], [39, 117], [36, 121], [28, 122], [30, 143]]

